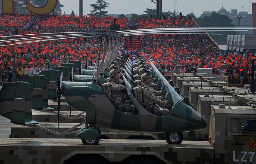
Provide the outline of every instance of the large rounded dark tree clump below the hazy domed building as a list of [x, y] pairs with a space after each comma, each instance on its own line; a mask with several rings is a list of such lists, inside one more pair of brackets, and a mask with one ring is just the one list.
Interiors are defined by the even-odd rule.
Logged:
[[[191, 14], [191, 13], [190, 13]], [[219, 15], [218, 13], [213, 12], [210, 16], [195, 18], [195, 21], [200, 27], [235, 27], [232, 24], [231, 18], [226, 15]], [[219, 33], [219, 32], [218, 32]], [[211, 36], [212, 39], [220, 44], [223, 44], [227, 41], [227, 35], [235, 35], [236, 32], [221, 32], [221, 36]]]

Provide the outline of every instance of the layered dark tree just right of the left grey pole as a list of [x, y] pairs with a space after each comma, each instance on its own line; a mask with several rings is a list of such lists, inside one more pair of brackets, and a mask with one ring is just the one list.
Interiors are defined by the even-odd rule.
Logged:
[[96, 4], [91, 4], [93, 10], [90, 10], [90, 15], [95, 15], [99, 17], [104, 17], [108, 12], [103, 11], [109, 3], [107, 3], [105, 0], [97, 0]]

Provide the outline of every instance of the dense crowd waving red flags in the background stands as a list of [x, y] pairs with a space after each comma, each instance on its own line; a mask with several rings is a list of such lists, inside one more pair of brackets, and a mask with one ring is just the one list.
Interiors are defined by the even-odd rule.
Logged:
[[[121, 30], [129, 29], [128, 18], [98, 18], [95, 16], [49, 16], [0, 15], [0, 36], [29, 33], [57, 33], [106, 30], [110, 24], [120, 24]], [[138, 29], [165, 27], [198, 27], [192, 19], [186, 18], [143, 18], [138, 19]], [[38, 35], [32, 35], [38, 36]], [[23, 38], [28, 36], [22, 36]], [[8, 39], [15, 39], [9, 37]], [[0, 38], [6, 39], [5, 37]], [[251, 59], [256, 52], [221, 51], [208, 35], [144, 35], [140, 36], [142, 48], [129, 52], [120, 47], [119, 54], [142, 55], [149, 58], [168, 76], [172, 72], [189, 73], [197, 68], [213, 68], [214, 74], [227, 75], [232, 82], [233, 74], [238, 73], [240, 82], [248, 76]], [[84, 63], [95, 60], [99, 50], [98, 37], [62, 39], [47, 42], [27, 43], [0, 47], [0, 69], [3, 80], [21, 81], [26, 75], [37, 74], [41, 70], [60, 66], [68, 61], [79, 60]], [[0, 43], [3, 45], [6, 43]], [[84, 64], [85, 65], [85, 64]], [[239, 83], [240, 83], [239, 82]]]

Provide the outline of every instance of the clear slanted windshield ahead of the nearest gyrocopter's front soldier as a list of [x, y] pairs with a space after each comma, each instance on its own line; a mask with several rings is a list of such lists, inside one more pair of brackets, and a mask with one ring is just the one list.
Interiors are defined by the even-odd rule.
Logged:
[[[150, 61], [150, 60], [149, 60]], [[172, 88], [172, 86], [169, 84], [169, 82], [165, 79], [164, 76], [157, 70], [156, 66], [150, 61], [150, 64], [152, 66], [152, 69], [158, 79], [161, 80], [162, 87], [165, 87], [166, 94], [170, 94], [173, 100], [173, 107], [177, 106], [179, 103], [181, 103], [182, 98], [181, 96]]]

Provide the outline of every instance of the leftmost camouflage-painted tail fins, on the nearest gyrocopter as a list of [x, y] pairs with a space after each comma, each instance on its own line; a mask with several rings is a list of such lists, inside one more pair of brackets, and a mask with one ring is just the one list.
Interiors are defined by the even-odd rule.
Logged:
[[0, 114], [19, 125], [38, 124], [32, 120], [30, 84], [5, 83], [0, 91]]

